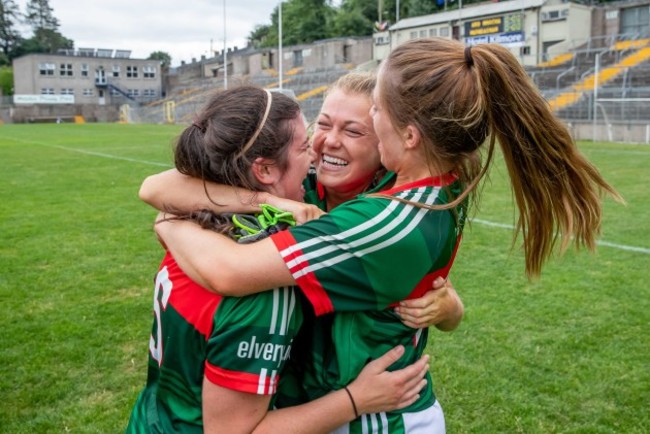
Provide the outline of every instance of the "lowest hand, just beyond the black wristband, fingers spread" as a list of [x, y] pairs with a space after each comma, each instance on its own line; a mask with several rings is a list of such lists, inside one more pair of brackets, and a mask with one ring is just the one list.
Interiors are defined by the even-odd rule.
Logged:
[[368, 363], [359, 376], [348, 386], [359, 414], [398, 410], [413, 404], [426, 386], [424, 378], [429, 371], [429, 356], [397, 371], [387, 371], [389, 366], [404, 354], [399, 345], [377, 360]]

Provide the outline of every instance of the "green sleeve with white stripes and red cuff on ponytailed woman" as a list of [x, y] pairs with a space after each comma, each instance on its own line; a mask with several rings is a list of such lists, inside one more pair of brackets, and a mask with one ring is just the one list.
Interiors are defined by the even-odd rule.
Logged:
[[446, 211], [359, 198], [272, 239], [317, 315], [385, 309], [431, 288], [457, 232]]

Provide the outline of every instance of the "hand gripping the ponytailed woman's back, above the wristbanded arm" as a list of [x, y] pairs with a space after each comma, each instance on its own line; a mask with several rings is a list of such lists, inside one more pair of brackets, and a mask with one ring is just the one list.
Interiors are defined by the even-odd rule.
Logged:
[[435, 325], [442, 331], [458, 327], [463, 318], [463, 302], [449, 279], [438, 277], [433, 289], [420, 298], [404, 300], [395, 308], [402, 323], [412, 328]]

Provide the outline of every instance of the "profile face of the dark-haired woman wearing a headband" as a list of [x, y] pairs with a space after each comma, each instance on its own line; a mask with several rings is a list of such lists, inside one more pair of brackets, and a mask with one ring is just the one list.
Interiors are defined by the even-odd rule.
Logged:
[[291, 128], [293, 128], [293, 141], [287, 151], [288, 165], [284, 170], [280, 170], [277, 166], [269, 167], [269, 170], [277, 172], [277, 181], [269, 186], [269, 192], [278, 197], [302, 202], [305, 195], [302, 181], [307, 176], [313, 154], [309, 149], [309, 139], [302, 115], [291, 121]]

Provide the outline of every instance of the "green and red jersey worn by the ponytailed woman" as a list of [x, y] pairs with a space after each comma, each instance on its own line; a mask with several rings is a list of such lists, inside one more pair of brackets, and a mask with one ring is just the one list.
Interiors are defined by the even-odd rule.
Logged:
[[[455, 177], [446, 175], [382, 193], [440, 205], [453, 200], [460, 189]], [[306, 332], [311, 334], [311, 354], [303, 385], [310, 399], [344, 387], [370, 360], [398, 344], [407, 351], [391, 369], [419, 359], [427, 330], [403, 325], [391, 306], [420, 297], [436, 277], [447, 277], [464, 214], [464, 204], [452, 210], [430, 210], [366, 195], [272, 236], [316, 315], [335, 313], [316, 318], [314, 330]], [[296, 397], [289, 389], [281, 386], [280, 393]], [[429, 384], [416, 403], [395, 413], [420, 411], [434, 400]]]

